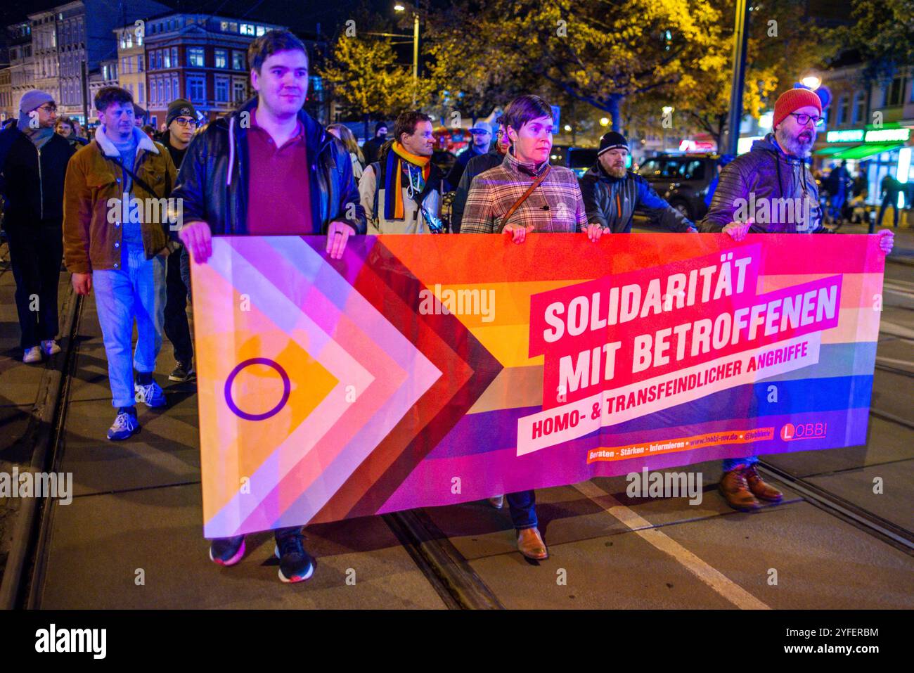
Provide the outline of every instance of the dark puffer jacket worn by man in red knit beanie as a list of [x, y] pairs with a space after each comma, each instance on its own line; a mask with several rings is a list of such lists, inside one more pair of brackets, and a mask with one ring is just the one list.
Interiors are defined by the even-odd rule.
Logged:
[[[787, 199], [793, 200], [793, 208]], [[802, 199], [808, 199], [808, 206], [803, 206]], [[738, 215], [746, 214], [756, 220], [749, 227], [749, 233], [826, 231], [812, 171], [803, 159], [784, 154], [775, 143], [774, 134], [755, 141], [749, 152], [738, 156], [720, 171], [717, 191], [701, 222], [701, 230], [721, 231]]]

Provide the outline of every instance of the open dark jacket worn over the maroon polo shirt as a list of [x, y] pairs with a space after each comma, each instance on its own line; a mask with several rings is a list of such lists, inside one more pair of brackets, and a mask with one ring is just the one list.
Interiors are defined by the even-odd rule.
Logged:
[[[190, 142], [172, 192], [172, 197], [183, 199], [185, 222], [203, 220], [214, 234], [248, 233], [247, 136], [249, 115], [256, 108], [254, 97], [228, 117], [208, 123]], [[301, 175], [311, 189], [314, 233], [326, 233], [338, 220], [364, 234], [365, 210], [358, 200], [349, 153], [306, 112], [300, 111], [298, 118], [307, 145], [308, 166], [301, 167]]]

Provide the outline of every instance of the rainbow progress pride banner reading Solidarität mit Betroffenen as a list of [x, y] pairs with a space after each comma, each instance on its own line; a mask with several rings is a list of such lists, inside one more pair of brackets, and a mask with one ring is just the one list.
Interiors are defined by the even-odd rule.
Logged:
[[866, 443], [876, 237], [220, 237], [209, 538]]

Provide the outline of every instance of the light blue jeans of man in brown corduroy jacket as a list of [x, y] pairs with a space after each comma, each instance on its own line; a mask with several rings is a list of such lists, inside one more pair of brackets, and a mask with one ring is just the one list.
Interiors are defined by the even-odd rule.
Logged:
[[[142, 247], [124, 247], [121, 268], [92, 272], [95, 305], [108, 357], [114, 407], [133, 406], [133, 368], [155, 370], [165, 322], [165, 258], [146, 259]], [[131, 361], [133, 321], [136, 350]]]

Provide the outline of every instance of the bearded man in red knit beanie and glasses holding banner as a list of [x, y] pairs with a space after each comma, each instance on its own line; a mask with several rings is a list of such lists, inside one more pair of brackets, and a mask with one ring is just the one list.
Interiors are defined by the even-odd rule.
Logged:
[[[752, 144], [720, 172], [702, 231], [726, 231], [733, 240], [747, 233], [826, 233], [819, 191], [806, 166], [816, 129], [824, 125], [822, 101], [808, 89], [784, 91], [774, 103], [773, 133]], [[879, 247], [892, 250], [892, 232], [882, 230]], [[748, 413], [747, 409], [747, 413]], [[781, 491], [762, 481], [757, 456], [724, 460], [720, 492], [728, 505], [754, 511], [781, 502]]]

